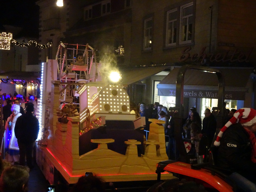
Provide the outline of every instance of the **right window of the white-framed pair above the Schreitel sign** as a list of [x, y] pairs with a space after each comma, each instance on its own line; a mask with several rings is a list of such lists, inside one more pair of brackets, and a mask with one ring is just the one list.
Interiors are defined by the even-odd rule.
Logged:
[[191, 42], [193, 28], [193, 2], [180, 7], [180, 44]]

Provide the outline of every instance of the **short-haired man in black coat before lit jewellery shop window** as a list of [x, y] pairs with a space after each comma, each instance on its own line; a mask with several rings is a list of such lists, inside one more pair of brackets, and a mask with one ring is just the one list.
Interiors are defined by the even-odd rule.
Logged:
[[217, 121], [215, 119], [215, 116], [211, 113], [210, 109], [205, 110], [205, 118], [203, 119], [202, 122], [202, 134], [206, 134], [207, 137], [209, 138], [209, 144], [208, 146], [212, 144], [215, 132], [216, 132], [216, 127], [217, 127]]

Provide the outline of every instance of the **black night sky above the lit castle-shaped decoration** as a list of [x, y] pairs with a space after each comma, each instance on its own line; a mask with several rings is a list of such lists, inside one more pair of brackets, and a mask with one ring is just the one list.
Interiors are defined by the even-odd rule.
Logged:
[[2, 0], [0, 3], [0, 32], [5, 31], [3, 25], [22, 27], [18, 36], [38, 37], [39, 6], [38, 0]]

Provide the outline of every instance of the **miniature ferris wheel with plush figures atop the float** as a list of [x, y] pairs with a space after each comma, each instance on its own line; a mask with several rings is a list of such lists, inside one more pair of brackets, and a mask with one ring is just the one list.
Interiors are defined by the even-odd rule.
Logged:
[[60, 100], [73, 101], [76, 90], [83, 83], [98, 81], [98, 68], [95, 49], [87, 45], [65, 44], [60, 42], [56, 54], [58, 61], [58, 79], [64, 84], [60, 87]]

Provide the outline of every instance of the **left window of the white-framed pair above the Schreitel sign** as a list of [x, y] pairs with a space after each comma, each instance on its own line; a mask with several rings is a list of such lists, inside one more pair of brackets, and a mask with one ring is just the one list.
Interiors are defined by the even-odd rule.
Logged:
[[165, 46], [176, 45], [177, 37], [177, 8], [167, 11]]

